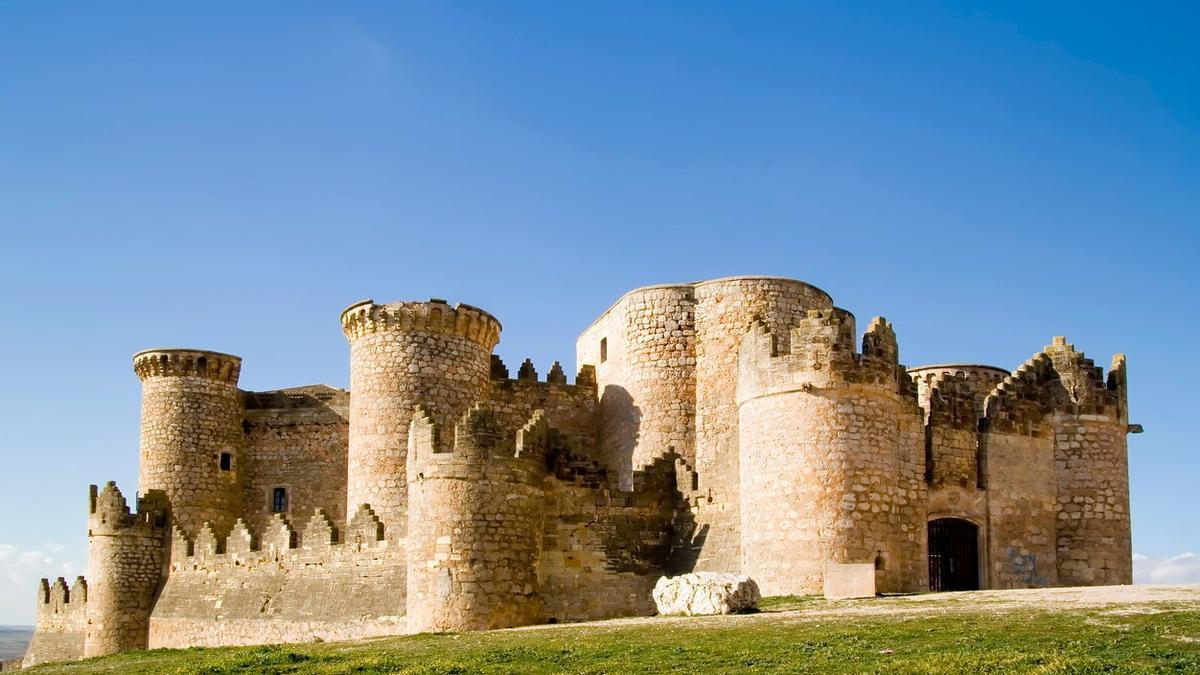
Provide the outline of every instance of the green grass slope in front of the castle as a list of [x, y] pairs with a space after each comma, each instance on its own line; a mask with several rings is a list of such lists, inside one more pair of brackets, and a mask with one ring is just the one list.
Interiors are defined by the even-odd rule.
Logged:
[[[766, 598], [762, 614], [746, 616], [155, 650], [31, 673], [1200, 673], [1195, 610], [803, 611], [828, 607], [818, 598]], [[784, 609], [802, 611], [778, 614]]]

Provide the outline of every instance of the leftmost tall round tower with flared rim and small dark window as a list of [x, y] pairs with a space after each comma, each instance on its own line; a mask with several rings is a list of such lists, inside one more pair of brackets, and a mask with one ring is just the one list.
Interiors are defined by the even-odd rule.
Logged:
[[175, 524], [192, 536], [204, 522], [228, 534], [242, 506], [241, 358], [146, 350], [133, 356], [133, 370], [142, 380], [140, 492], [166, 492]]

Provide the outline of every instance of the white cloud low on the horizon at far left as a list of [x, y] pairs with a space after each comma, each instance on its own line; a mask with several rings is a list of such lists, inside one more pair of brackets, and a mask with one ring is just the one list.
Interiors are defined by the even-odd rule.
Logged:
[[0, 625], [31, 625], [36, 614], [37, 580], [64, 577], [67, 584], [83, 574], [84, 563], [65, 556], [62, 544], [22, 550], [0, 544]]

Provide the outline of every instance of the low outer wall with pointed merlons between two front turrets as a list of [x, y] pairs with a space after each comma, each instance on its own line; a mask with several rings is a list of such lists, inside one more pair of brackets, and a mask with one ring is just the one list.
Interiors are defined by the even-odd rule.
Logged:
[[352, 640], [404, 632], [403, 550], [360, 507], [344, 527], [322, 510], [282, 514], [228, 538], [176, 530], [150, 617], [150, 649]]

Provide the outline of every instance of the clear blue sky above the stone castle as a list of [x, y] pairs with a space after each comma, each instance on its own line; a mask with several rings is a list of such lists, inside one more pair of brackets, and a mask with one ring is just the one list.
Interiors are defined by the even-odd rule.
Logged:
[[1127, 352], [1140, 575], [1200, 580], [1194, 5], [799, 5], [0, 1], [0, 623], [133, 491], [140, 348], [347, 386], [341, 309], [437, 295], [545, 371], [733, 274], [910, 365]]

